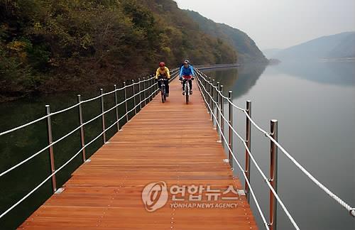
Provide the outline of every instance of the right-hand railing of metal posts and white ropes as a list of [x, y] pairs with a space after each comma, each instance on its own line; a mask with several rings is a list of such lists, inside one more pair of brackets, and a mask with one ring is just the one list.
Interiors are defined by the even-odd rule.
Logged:
[[[283, 146], [278, 143], [278, 121], [277, 120], [271, 120], [271, 131], [270, 133], [264, 131], [258, 124], [256, 124], [253, 119], [251, 119], [251, 101], [246, 102], [246, 109], [243, 109], [239, 106], [236, 106], [232, 102], [232, 91], [229, 91], [228, 97], [224, 96], [223, 94], [223, 85], [220, 85], [219, 82], [214, 82], [214, 80], [211, 80], [210, 77], [207, 77], [207, 75], [204, 75], [200, 70], [196, 70], [196, 75], [197, 75], [197, 84], [198, 87], [200, 88], [200, 92], [202, 94], [202, 97], [204, 99], [204, 103], [207, 107], [208, 112], [211, 114], [211, 119], [212, 121], [215, 121], [216, 123], [216, 128], [217, 131], [219, 132], [219, 136], [221, 137], [220, 142], [222, 143], [223, 146], [226, 146], [228, 148], [228, 154], [229, 154], [229, 164], [231, 168], [233, 168], [233, 160], [236, 162], [238, 165], [239, 169], [241, 170], [244, 179], [245, 179], [245, 185], [244, 185], [244, 190], [246, 191], [247, 199], [248, 202], [250, 201], [250, 197], [253, 197], [254, 202], [256, 203], [256, 208], [258, 209], [258, 212], [261, 216], [261, 219], [263, 220], [263, 224], [266, 227], [266, 229], [270, 230], [275, 230], [276, 229], [276, 223], [277, 223], [277, 204], [280, 204], [280, 207], [283, 209], [285, 212], [286, 216], [290, 220], [290, 222], [293, 224], [295, 229], [300, 229], [297, 224], [295, 223], [295, 220], [291, 216], [290, 212], [288, 212], [288, 209], [285, 207], [285, 204], [283, 204], [282, 200], [278, 196], [277, 192], [277, 181], [278, 181], [278, 149], [281, 150], [282, 153], [284, 153], [292, 163], [294, 163], [297, 168], [299, 168], [307, 177], [312, 180], [312, 182], [315, 183], [318, 187], [320, 187], [324, 192], [327, 193], [330, 197], [332, 197], [335, 201], [337, 201], [342, 207], [344, 207], [349, 214], [352, 217], [355, 217], [355, 209], [354, 207], [350, 207], [349, 204], [346, 204], [342, 199], [337, 197], [337, 195], [334, 195], [333, 192], [331, 192], [327, 187], [322, 185], [321, 182], [319, 182], [315, 177], [313, 177], [310, 172], [305, 170], [305, 168], [300, 165], [291, 155], [288, 153], [288, 151], [283, 148]], [[224, 102], [227, 102], [228, 104], [228, 119], [226, 118], [224, 114]], [[236, 129], [234, 128], [235, 126], [233, 125], [233, 111], [234, 109], [241, 111], [242, 113], [245, 114], [246, 116], [246, 138], [242, 138], [239, 133], [236, 132]], [[226, 138], [225, 134], [225, 128], [224, 124], [228, 125], [228, 140]], [[258, 131], [261, 131], [267, 138], [270, 139], [270, 144], [271, 144], [271, 150], [270, 150], [270, 177], [266, 177], [264, 172], [261, 170], [260, 166], [256, 162], [255, 158], [251, 154], [251, 124], [255, 126]], [[234, 155], [233, 150], [232, 150], [232, 144], [233, 144], [233, 137], [237, 136], [239, 140], [244, 144], [245, 148], [245, 169], [241, 166], [241, 163], [239, 163], [239, 160], [236, 158], [236, 155]], [[266, 182], [266, 185], [268, 185], [269, 190], [270, 190], [270, 195], [269, 195], [269, 221], [266, 221], [266, 218], [261, 210], [261, 207], [258, 203], [258, 200], [256, 199], [256, 196], [253, 192], [253, 188], [251, 187], [251, 182], [250, 182], [250, 165], [251, 162], [256, 166], [256, 169], [258, 172], [261, 174], [263, 177], [263, 180]]]

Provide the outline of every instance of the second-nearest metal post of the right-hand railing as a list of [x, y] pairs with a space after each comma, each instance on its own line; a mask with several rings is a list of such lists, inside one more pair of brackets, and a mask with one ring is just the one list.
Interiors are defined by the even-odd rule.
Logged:
[[[251, 117], [251, 101], [246, 101], [246, 112], [247, 114]], [[250, 150], [251, 146], [251, 121], [249, 117], [246, 117], [246, 147]], [[250, 182], [250, 156], [248, 153], [248, 150], [245, 150], [245, 172], [246, 172], [246, 178]], [[249, 186], [245, 182], [245, 190], [246, 190], [246, 196], [248, 198], [248, 202], [250, 202], [250, 192], [249, 192]]]

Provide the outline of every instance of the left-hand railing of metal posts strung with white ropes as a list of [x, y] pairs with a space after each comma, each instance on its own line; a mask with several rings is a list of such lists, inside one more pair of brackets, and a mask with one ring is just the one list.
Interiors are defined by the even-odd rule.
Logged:
[[[178, 69], [172, 70], [171, 71], [171, 76], [172, 76], [171, 80], [173, 80], [176, 76], [178, 76]], [[143, 80], [138, 79], [138, 82], [135, 82], [134, 80], [131, 80], [131, 84], [129, 84], [129, 85], [126, 85], [126, 82], [123, 82], [123, 84], [124, 84], [124, 87], [121, 87], [119, 89], [116, 87], [116, 84], [114, 84], [114, 90], [111, 91], [111, 92], [107, 92], [107, 93], [104, 93], [104, 90], [100, 89], [100, 95], [97, 96], [97, 97], [93, 97], [92, 99], [82, 100], [81, 95], [77, 95], [77, 104], [74, 104], [74, 105], [72, 105], [70, 107], [67, 107], [65, 109], [62, 109], [60, 111], [51, 112], [50, 111], [50, 106], [49, 105], [45, 105], [45, 116], [43, 116], [43, 117], [41, 117], [39, 119], [35, 119], [34, 121], [28, 122], [27, 124], [23, 124], [23, 125], [18, 126], [16, 128], [11, 128], [8, 131], [4, 131], [4, 132], [0, 133], [0, 137], [1, 137], [1, 136], [4, 136], [4, 135], [8, 134], [8, 133], [12, 133], [13, 131], [17, 131], [17, 130], [20, 130], [21, 128], [25, 128], [27, 126], [30, 126], [32, 124], [37, 124], [39, 121], [43, 121], [43, 120], [46, 119], [46, 121], [47, 121], [47, 131], [48, 131], [48, 146], [46, 146], [45, 148], [42, 148], [37, 153], [34, 153], [33, 155], [31, 155], [30, 157], [26, 158], [25, 160], [22, 160], [20, 163], [17, 163], [16, 165], [13, 165], [11, 168], [5, 170], [4, 172], [0, 172], [0, 177], [3, 177], [7, 173], [17, 169], [18, 167], [20, 167], [24, 163], [27, 163], [28, 160], [31, 160], [32, 158], [35, 158], [37, 155], [40, 155], [40, 153], [43, 153], [45, 150], [49, 150], [49, 153], [50, 153], [50, 170], [51, 170], [50, 175], [48, 175], [48, 177], [46, 177], [45, 180], [43, 180], [43, 182], [40, 182], [40, 184], [37, 185], [35, 188], [33, 188], [33, 190], [28, 192], [27, 195], [25, 195], [24, 197], [19, 199], [18, 202], [16, 202], [11, 207], [6, 209], [5, 212], [0, 214], [0, 219], [2, 217], [4, 217], [6, 214], [8, 214], [9, 212], [11, 212], [11, 210], [13, 208], [17, 207], [18, 204], [21, 204], [21, 202], [23, 202], [23, 200], [25, 200], [26, 198], [31, 196], [33, 194], [33, 192], [38, 190], [42, 185], [45, 184], [45, 182], [47, 182], [50, 179], [51, 179], [51, 182], [52, 182], [53, 193], [56, 192], [58, 186], [57, 186], [55, 175], [60, 170], [62, 170], [62, 168], [65, 168], [65, 166], [68, 165], [72, 160], [74, 160], [77, 157], [77, 155], [79, 155], [80, 153], [82, 153], [82, 163], [87, 162], [85, 149], [89, 145], [91, 145], [94, 141], [97, 141], [97, 139], [100, 138], [100, 137], [102, 137], [102, 139], [103, 139], [103, 144], [107, 143], [107, 137], [106, 137], [107, 131], [109, 131], [114, 126], [116, 126], [116, 131], [119, 131], [120, 130], [120, 126], [119, 126], [119, 122], [120, 121], [125, 120], [126, 122], [129, 122], [129, 114], [133, 113], [133, 116], [136, 115], [137, 111], [138, 111], [138, 107], [140, 109], [142, 109], [143, 106], [146, 106], [146, 104], [148, 104], [148, 102], [151, 102], [153, 97], [155, 97], [155, 95], [158, 93], [158, 84], [157, 84], [157, 82], [155, 82], [155, 77], [153, 75], [151, 75], [151, 76], [149, 76], [147, 78], [143, 77]], [[130, 88], [130, 87], [132, 89], [133, 95], [131, 97], [127, 98], [126, 90], [128, 88]], [[143, 87], [143, 89], [142, 89], [142, 87]], [[137, 88], [138, 88], [138, 90], [136, 90]], [[122, 102], [118, 102], [117, 92], [120, 92], [122, 90], [124, 91], [124, 100]], [[104, 97], [107, 96], [107, 95], [111, 95], [111, 94], [114, 94], [114, 103], [115, 103], [115, 105], [113, 107], [111, 107], [110, 109], [105, 110], [105, 108], [104, 108]], [[142, 97], [143, 97], [143, 99], [142, 99]], [[97, 99], [100, 99], [100, 101], [101, 101], [102, 113], [98, 114], [97, 116], [95, 116], [94, 118], [90, 119], [89, 121], [83, 122], [83, 119], [82, 119], [82, 116], [83, 116], [82, 104], [85, 104], [87, 102], [92, 102], [92, 101], [97, 100]], [[138, 102], [136, 102], [136, 99], [138, 99]], [[128, 102], [130, 100], [133, 101], [133, 109], [128, 110], [128, 108], [129, 108]], [[142, 106], [142, 104], [143, 104], [143, 106]], [[119, 117], [118, 107], [121, 106], [121, 105], [124, 105], [124, 107], [125, 107], [125, 114], [123, 116]], [[53, 141], [51, 118], [53, 116], [57, 115], [57, 114], [62, 114], [65, 111], [70, 111], [71, 109], [75, 109], [75, 108], [78, 109], [78, 116], [79, 116], [80, 126], [77, 126], [77, 128], [75, 128], [74, 130], [70, 131], [65, 136], [62, 136], [61, 138], [58, 138], [58, 140]], [[109, 113], [110, 111], [114, 111], [114, 110], [115, 110], [115, 121], [109, 127], [106, 127], [105, 114]], [[92, 123], [92, 121], [95, 121], [95, 120], [100, 119], [100, 118], [102, 119], [102, 132], [99, 133], [99, 135], [96, 136], [95, 138], [93, 138], [91, 141], [86, 143], [85, 136], [84, 136], [84, 126], [86, 126], [87, 124]], [[55, 144], [57, 144], [57, 143], [60, 143], [60, 141], [64, 140], [65, 138], [70, 136], [72, 133], [75, 133], [76, 131], [80, 131], [80, 143], [81, 143], [80, 150], [78, 150], [77, 153], [75, 153], [75, 155], [72, 155], [72, 158], [67, 160], [67, 162], [64, 163], [62, 166], [60, 166], [60, 168], [55, 169], [55, 154], [53, 152], [53, 146], [55, 146]]]

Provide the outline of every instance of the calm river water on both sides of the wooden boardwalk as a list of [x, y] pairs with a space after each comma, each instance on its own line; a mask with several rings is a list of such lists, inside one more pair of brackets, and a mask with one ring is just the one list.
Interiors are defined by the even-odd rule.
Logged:
[[[233, 102], [245, 107], [252, 101], [252, 117], [266, 131], [270, 120], [278, 119], [278, 140], [320, 182], [354, 207], [355, 205], [355, 65], [346, 62], [285, 64], [275, 66], [246, 65], [228, 70], [204, 71], [224, 85], [224, 92], [233, 91]], [[113, 87], [107, 87], [107, 91]], [[84, 99], [99, 92], [84, 94]], [[131, 94], [131, 92], [129, 92]], [[119, 94], [119, 98], [123, 97]], [[22, 99], [0, 104], [0, 131], [25, 124], [45, 114], [45, 104], [52, 111], [64, 109], [77, 102], [76, 93]], [[113, 97], [105, 99], [105, 107], [114, 104]], [[131, 108], [132, 104], [129, 104]], [[225, 111], [227, 111], [225, 104]], [[84, 104], [84, 121], [100, 113], [99, 100]], [[119, 114], [124, 108], [119, 107]], [[245, 116], [234, 111], [234, 124], [245, 136]], [[114, 121], [114, 112], [107, 114], [107, 126]], [[77, 109], [53, 117], [54, 140], [78, 125]], [[109, 131], [112, 136], [115, 129]], [[85, 127], [85, 137], [91, 140], [101, 132], [101, 120]], [[0, 172], [15, 165], [47, 146], [45, 121], [21, 131], [0, 137]], [[87, 148], [92, 155], [102, 139]], [[80, 133], [74, 133], [54, 148], [58, 168], [80, 149]], [[244, 149], [234, 138], [234, 152], [244, 165]], [[269, 171], [270, 142], [252, 127], [251, 150], [263, 172]], [[82, 162], [80, 155], [65, 170], [58, 173], [58, 187]], [[235, 165], [235, 164], [234, 164]], [[234, 170], [240, 178], [238, 168]], [[50, 173], [48, 151], [38, 155], [18, 170], [0, 177], [0, 213], [21, 199]], [[244, 181], [242, 180], [244, 183]], [[261, 209], [268, 219], [268, 187], [251, 164], [251, 184]], [[325, 195], [288, 158], [278, 154], [278, 193], [300, 229], [355, 229], [355, 219], [345, 209]], [[4, 218], [0, 229], [13, 229], [51, 195], [48, 181], [31, 197]], [[255, 204], [251, 207], [263, 229]], [[278, 229], [293, 229], [278, 207]]]

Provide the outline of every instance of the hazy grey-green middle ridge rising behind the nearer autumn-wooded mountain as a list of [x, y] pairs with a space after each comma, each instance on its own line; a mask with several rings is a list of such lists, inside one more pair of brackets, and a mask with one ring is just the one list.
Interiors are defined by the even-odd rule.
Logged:
[[195, 11], [185, 12], [198, 23], [204, 33], [232, 45], [238, 52], [239, 62], [268, 62], [256, 43], [243, 31], [223, 23], [215, 23]]

